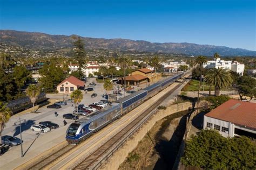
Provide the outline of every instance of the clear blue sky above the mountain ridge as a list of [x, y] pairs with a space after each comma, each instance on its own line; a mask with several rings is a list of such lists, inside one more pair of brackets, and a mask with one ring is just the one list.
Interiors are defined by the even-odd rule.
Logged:
[[0, 0], [0, 29], [256, 51], [255, 0]]

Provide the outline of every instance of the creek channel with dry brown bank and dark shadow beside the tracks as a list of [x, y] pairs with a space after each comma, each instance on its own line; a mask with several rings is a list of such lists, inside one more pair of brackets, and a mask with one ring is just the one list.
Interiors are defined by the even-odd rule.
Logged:
[[156, 122], [118, 169], [171, 169], [184, 135], [187, 113], [172, 114]]

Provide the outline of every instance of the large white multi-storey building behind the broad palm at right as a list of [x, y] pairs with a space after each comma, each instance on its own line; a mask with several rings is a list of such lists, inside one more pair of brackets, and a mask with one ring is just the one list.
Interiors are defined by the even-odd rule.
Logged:
[[224, 69], [230, 69], [233, 72], [237, 72], [240, 75], [244, 74], [245, 65], [241, 64], [237, 61], [225, 61], [220, 60], [220, 58], [212, 61], [207, 61], [203, 65], [204, 68], [224, 68]]

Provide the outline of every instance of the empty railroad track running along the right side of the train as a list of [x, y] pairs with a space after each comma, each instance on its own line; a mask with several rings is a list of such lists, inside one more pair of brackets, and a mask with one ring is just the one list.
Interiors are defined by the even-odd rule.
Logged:
[[[185, 81], [185, 80], [184, 80]], [[184, 82], [183, 81], [183, 82]], [[183, 83], [181, 82], [181, 84]], [[174, 87], [172, 90], [170, 90], [168, 93], [163, 95], [157, 102], [155, 102], [149, 109], [147, 109], [143, 114], [138, 116], [133, 122], [126, 125], [124, 129], [120, 130], [117, 134], [115, 134], [111, 139], [107, 140], [105, 144], [98, 147], [94, 152], [89, 154], [87, 157], [83, 158], [79, 161], [79, 163], [73, 167], [72, 169], [96, 169], [96, 164], [99, 162], [101, 164], [100, 159], [104, 157], [104, 155], [113, 148], [114, 144], [117, 144], [124, 136], [125, 134], [129, 133], [135, 126], [139, 124], [145, 118], [147, 115], [149, 115], [155, 108], [158, 107], [158, 105], [165, 100], [166, 97], [168, 97], [170, 94], [173, 93], [176, 89], [178, 89], [181, 84]]]

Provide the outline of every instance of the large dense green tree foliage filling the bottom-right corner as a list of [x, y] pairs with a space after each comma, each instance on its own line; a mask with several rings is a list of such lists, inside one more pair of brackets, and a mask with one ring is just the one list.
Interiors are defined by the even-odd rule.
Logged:
[[186, 143], [186, 166], [203, 169], [255, 169], [256, 145], [247, 137], [222, 137], [215, 130], [202, 130]]

